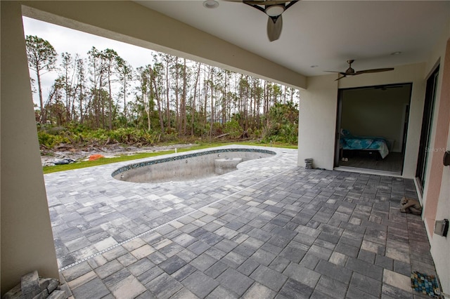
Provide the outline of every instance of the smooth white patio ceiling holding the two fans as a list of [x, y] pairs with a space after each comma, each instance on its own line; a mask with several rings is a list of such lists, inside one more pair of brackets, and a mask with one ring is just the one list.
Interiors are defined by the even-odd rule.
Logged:
[[356, 71], [423, 62], [450, 15], [450, 1], [299, 1], [269, 42], [268, 17], [240, 1], [136, 2], [306, 76], [343, 72], [348, 59]]

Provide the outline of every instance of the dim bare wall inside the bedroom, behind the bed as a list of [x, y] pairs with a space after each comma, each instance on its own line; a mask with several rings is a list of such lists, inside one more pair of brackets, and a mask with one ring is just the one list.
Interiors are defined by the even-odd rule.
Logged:
[[401, 152], [404, 114], [411, 98], [410, 86], [357, 88], [342, 91], [342, 121], [352, 135], [380, 136], [394, 142], [392, 152]]

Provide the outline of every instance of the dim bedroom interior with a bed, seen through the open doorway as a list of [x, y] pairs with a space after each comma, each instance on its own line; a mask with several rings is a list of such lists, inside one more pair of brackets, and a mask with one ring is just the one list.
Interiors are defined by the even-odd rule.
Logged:
[[336, 166], [401, 175], [411, 86], [390, 84], [340, 90], [340, 150]]

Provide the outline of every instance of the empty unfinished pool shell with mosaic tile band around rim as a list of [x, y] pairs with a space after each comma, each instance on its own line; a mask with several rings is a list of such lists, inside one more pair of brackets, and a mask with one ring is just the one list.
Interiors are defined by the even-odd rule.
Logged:
[[[272, 157], [276, 152], [255, 148], [229, 148], [207, 150], [192, 154], [143, 161], [118, 168], [111, 175], [126, 182], [186, 181], [220, 175], [214, 171], [215, 160], [240, 158], [242, 162]], [[236, 159], [235, 159], [236, 160]], [[233, 167], [235, 170], [236, 168]], [[229, 171], [233, 170], [230, 169]], [[228, 171], [226, 171], [228, 172]]]

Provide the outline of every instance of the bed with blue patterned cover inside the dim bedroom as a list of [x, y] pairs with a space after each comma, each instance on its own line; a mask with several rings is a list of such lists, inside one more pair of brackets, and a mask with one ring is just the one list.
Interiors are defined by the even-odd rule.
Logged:
[[388, 142], [383, 137], [354, 136], [347, 130], [341, 131], [340, 148], [342, 150], [376, 150], [385, 159], [389, 154]]

